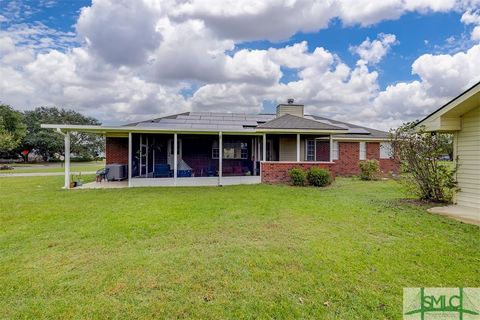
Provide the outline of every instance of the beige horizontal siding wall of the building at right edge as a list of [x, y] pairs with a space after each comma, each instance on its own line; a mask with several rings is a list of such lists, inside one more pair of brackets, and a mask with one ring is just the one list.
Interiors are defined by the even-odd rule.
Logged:
[[458, 157], [456, 195], [459, 205], [480, 208], [480, 107], [462, 117], [462, 129], [456, 133]]

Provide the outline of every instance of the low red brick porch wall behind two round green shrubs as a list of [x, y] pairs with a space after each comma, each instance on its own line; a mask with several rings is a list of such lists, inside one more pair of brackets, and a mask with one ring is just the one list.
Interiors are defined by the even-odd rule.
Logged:
[[319, 162], [262, 162], [262, 182], [263, 183], [289, 183], [290, 177], [288, 171], [293, 168], [303, 168], [308, 170], [311, 167], [318, 167], [330, 170], [332, 177], [335, 178], [333, 163]]

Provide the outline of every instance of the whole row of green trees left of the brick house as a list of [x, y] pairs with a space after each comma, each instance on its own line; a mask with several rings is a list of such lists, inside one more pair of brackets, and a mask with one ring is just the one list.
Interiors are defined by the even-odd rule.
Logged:
[[[100, 125], [95, 118], [74, 110], [57, 107], [39, 107], [29, 111], [17, 111], [0, 104], [0, 158], [17, 159], [25, 151], [34, 153], [44, 161], [58, 159], [64, 154], [64, 138], [52, 129], [42, 129], [42, 123]], [[77, 158], [91, 160], [105, 149], [102, 136], [76, 132], [71, 134], [71, 152]], [[26, 158], [26, 157], [25, 157]]]

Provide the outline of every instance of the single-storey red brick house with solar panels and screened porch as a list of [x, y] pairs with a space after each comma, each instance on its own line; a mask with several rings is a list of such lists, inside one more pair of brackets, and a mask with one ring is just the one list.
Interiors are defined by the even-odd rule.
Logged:
[[186, 112], [124, 126], [42, 127], [66, 134], [66, 155], [68, 132], [104, 134], [107, 164], [126, 165], [129, 186], [284, 183], [291, 168], [312, 166], [355, 175], [366, 159], [398, 171], [386, 132], [305, 115], [289, 102], [276, 114]]

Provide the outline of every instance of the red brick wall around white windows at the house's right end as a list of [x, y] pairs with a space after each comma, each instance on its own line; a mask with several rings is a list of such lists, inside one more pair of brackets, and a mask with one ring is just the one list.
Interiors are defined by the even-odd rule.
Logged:
[[[380, 159], [380, 143], [367, 142], [367, 160], [376, 159], [380, 163], [380, 170], [387, 174], [398, 173], [399, 166], [392, 159]], [[339, 160], [335, 160], [335, 172], [337, 175], [357, 175], [360, 173], [360, 145], [358, 142], [339, 142]]]

